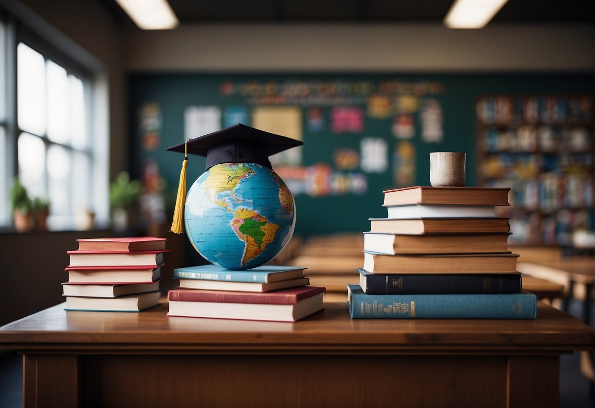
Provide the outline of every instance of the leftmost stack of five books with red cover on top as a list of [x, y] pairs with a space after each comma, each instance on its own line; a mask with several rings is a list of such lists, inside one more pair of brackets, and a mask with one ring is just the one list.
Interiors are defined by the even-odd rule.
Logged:
[[165, 238], [79, 239], [68, 251], [66, 310], [140, 312], [159, 305]]

